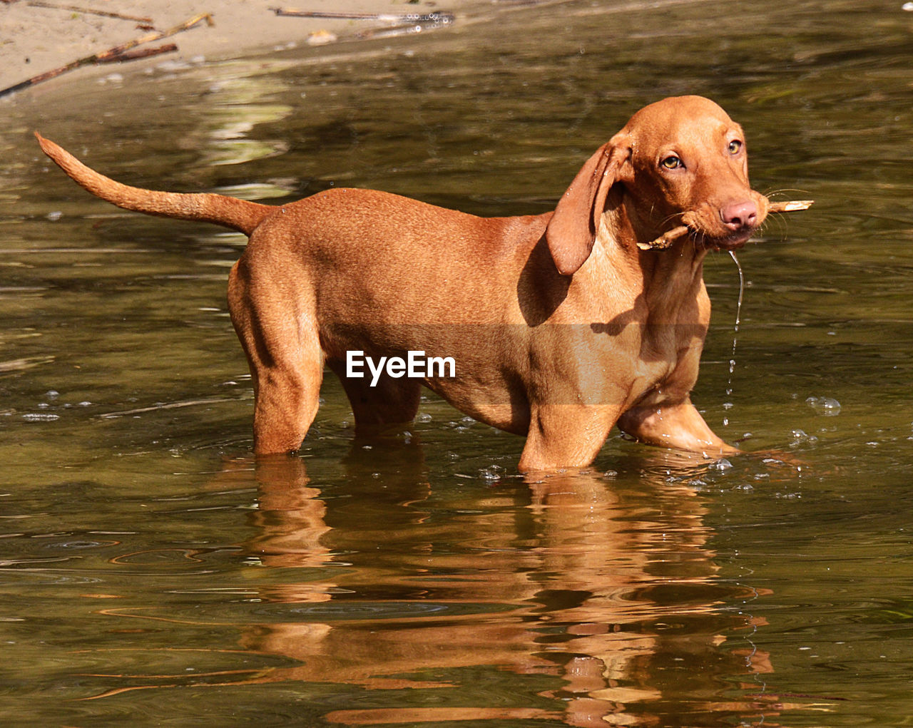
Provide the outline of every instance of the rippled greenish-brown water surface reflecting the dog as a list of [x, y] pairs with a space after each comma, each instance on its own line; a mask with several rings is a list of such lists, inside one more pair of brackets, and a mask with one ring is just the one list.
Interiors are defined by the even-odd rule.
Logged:
[[[5, 723], [908, 724], [913, 13], [771, 8], [492, 10], [6, 101]], [[255, 466], [225, 303], [245, 238], [101, 203], [30, 136], [159, 189], [537, 213], [690, 92], [744, 126], [758, 189], [817, 201], [740, 252], [738, 333], [738, 272], [708, 260], [695, 392], [798, 471], [613, 437], [591, 473], [527, 483], [521, 439], [430, 397], [354, 440], [331, 378], [300, 458]]]

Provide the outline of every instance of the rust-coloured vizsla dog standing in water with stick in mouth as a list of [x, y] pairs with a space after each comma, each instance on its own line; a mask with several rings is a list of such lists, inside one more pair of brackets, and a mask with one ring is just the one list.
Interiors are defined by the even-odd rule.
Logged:
[[[615, 424], [664, 447], [737, 452], [689, 398], [710, 317], [702, 262], [745, 244], [768, 201], [750, 188], [740, 126], [708, 99], [641, 109], [553, 213], [522, 217], [371, 190], [280, 206], [152, 192], [38, 140], [110, 203], [249, 235], [228, 305], [253, 375], [257, 454], [299, 448], [324, 364], [359, 430], [411, 421], [424, 384], [526, 435], [523, 471], [591, 463]], [[668, 249], [638, 248], [682, 224]], [[408, 352], [441, 366], [413, 367]]]

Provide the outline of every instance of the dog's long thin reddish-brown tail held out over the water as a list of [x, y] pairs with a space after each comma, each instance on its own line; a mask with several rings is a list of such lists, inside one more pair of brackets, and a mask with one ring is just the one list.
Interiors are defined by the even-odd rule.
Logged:
[[215, 223], [247, 235], [276, 210], [268, 204], [250, 203], [223, 194], [154, 192], [130, 187], [121, 182], [114, 182], [90, 169], [67, 150], [45, 139], [37, 131], [35, 136], [45, 154], [80, 187], [125, 210], [174, 217], [178, 220]]

